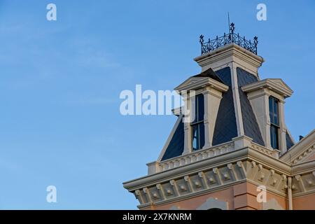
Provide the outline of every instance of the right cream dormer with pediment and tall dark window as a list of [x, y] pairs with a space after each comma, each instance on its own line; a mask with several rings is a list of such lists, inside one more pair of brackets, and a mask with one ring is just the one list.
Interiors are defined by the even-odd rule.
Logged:
[[280, 78], [259, 80], [242, 86], [241, 90], [251, 102], [265, 146], [285, 153], [291, 138], [284, 120], [284, 103], [293, 90]]

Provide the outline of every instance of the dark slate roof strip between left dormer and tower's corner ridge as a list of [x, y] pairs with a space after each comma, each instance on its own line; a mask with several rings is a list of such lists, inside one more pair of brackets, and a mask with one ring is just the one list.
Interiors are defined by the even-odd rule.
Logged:
[[231, 141], [232, 138], [237, 137], [230, 67], [220, 69], [216, 71], [216, 74], [223, 80], [225, 85], [228, 85], [229, 89], [227, 92], [223, 93], [218, 109], [218, 116], [216, 117], [216, 125], [214, 127], [214, 137], [212, 139], [212, 145], [214, 146]]

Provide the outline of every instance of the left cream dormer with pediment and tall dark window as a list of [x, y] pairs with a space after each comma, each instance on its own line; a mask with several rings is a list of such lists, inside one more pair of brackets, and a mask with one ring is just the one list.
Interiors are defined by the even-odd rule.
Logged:
[[[193, 113], [193, 119], [184, 123], [183, 155], [212, 146], [218, 108], [228, 88], [211, 68], [175, 88], [179, 94], [186, 93], [185, 104]], [[194, 94], [189, 94], [191, 91]]]

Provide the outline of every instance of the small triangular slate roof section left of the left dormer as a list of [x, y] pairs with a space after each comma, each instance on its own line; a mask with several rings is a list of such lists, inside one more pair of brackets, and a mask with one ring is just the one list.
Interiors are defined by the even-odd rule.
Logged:
[[[181, 116], [178, 118], [181, 119]], [[179, 125], [176, 127], [174, 135], [169, 142], [169, 146], [162, 157], [162, 160], [168, 160], [170, 158], [174, 158], [183, 153], [183, 144], [184, 144], [184, 129], [183, 122], [181, 121]]]

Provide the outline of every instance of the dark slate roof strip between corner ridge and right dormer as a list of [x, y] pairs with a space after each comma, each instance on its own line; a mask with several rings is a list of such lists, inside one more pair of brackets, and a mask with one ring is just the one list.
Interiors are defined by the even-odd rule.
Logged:
[[239, 85], [239, 100], [241, 102], [241, 117], [243, 120], [244, 134], [253, 139], [253, 142], [265, 146], [251, 103], [247, 98], [247, 94], [241, 90], [241, 86], [257, 81], [258, 78], [256, 76], [237, 67], [237, 83]]

